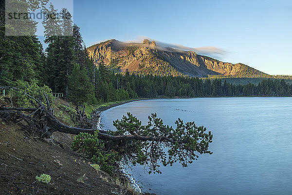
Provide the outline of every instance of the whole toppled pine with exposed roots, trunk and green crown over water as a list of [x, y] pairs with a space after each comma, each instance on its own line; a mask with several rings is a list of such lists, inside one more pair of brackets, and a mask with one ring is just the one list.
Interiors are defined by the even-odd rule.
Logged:
[[[89, 133], [93, 136], [79, 136], [75, 139], [73, 150], [81, 149], [80, 151], [87, 150], [86, 148], [96, 147], [103, 140], [104, 153], [109, 154], [111, 152], [118, 153], [122, 156], [122, 161], [145, 164], [148, 169], [154, 173], [161, 173], [158, 169], [160, 165], [158, 161], [172, 165], [175, 162], [180, 162], [183, 167], [192, 163], [193, 160], [197, 160], [198, 154], [212, 154], [208, 150], [209, 143], [212, 142], [213, 135], [205, 133], [206, 128], [203, 126], [197, 127], [195, 122], [183, 123], [179, 118], [175, 124], [176, 129], [171, 126], [164, 125], [161, 118], [157, 118], [156, 114], [151, 114], [148, 117], [149, 121], [147, 125], [142, 125], [141, 121], [136, 117], [128, 113], [128, 117], [123, 116], [121, 120], [116, 120], [113, 125], [116, 127], [115, 132], [96, 131], [95, 128], [76, 128], [65, 125], [57, 120], [50, 107], [49, 99], [46, 98], [47, 106], [34, 98], [25, 94], [28, 97], [34, 99], [39, 105], [38, 108], [5, 108], [0, 107], [0, 117], [6, 121], [20, 121], [24, 120], [27, 123], [23, 126], [24, 130], [28, 134], [38, 134], [39, 137], [49, 138], [54, 132], [62, 132], [66, 134], [78, 135], [80, 133]], [[85, 115], [85, 109], [81, 112], [76, 107], [77, 117], [83, 121], [87, 119]], [[95, 137], [95, 135], [97, 137]], [[86, 137], [90, 137], [93, 140], [96, 138], [100, 140], [93, 141], [92, 143], [82, 143]], [[79, 145], [80, 144], [80, 145]], [[88, 145], [89, 144], [89, 145]], [[79, 149], [78, 149], [79, 148]], [[82, 149], [83, 148], [83, 149]], [[167, 148], [168, 157], [166, 158], [166, 152], [164, 148]], [[99, 151], [99, 150], [96, 150]], [[92, 158], [98, 154], [96, 151], [91, 150], [87, 153], [89, 158]], [[100, 154], [100, 151], [98, 152]], [[112, 154], [113, 154], [112, 153]]]

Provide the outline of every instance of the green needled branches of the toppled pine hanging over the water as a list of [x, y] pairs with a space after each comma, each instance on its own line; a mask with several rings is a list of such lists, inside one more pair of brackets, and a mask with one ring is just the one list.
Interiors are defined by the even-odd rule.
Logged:
[[199, 154], [212, 154], [208, 150], [213, 135], [195, 122], [175, 122], [176, 129], [164, 125], [156, 114], [148, 117], [147, 125], [128, 113], [113, 125], [116, 131], [110, 136], [96, 131], [93, 135], [80, 133], [73, 141], [74, 151], [83, 153], [98, 164], [102, 171], [112, 173], [119, 162], [144, 165], [148, 173], [161, 173], [161, 165], [172, 166], [179, 162], [183, 167], [197, 160]]

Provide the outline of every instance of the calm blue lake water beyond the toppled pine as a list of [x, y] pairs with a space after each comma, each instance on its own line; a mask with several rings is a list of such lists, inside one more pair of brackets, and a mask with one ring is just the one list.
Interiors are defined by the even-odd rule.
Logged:
[[[209, 149], [186, 168], [161, 167], [162, 174], [132, 169], [144, 192], [157, 195], [291, 195], [292, 98], [191, 98], [131, 102], [102, 113], [104, 129], [131, 112], [146, 124], [157, 113], [164, 124], [178, 117], [213, 134]], [[149, 190], [149, 188], [151, 190]]]

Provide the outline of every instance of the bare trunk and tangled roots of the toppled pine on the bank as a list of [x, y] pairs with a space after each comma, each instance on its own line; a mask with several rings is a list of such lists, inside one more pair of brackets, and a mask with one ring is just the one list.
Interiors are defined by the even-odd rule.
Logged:
[[[24, 112], [33, 112], [29, 115], [23, 114]], [[49, 113], [45, 107], [36, 108], [5, 108], [0, 107], [0, 116], [6, 121], [17, 119], [22, 119], [27, 123], [25, 128], [30, 130], [30, 133], [37, 133], [42, 138], [49, 138], [54, 132], [61, 132], [66, 134], [78, 135], [80, 133], [94, 134], [96, 129], [93, 128], [77, 128], [71, 127], [61, 123], [56, 119], [51, 113]], [[167, 141], [167, 142], [177, 142], [168, 137], [145, 137], [138, 135], [124, 135], [124, 136], [112, 136], [106, 131], [100, 130], [98, 133], [98, 138], [102, 140], [112, 140], [112, 141], [127, 141], [127, 140], [142, 140], [142, 141]], [[179, 141], [182, 142], [183, 141]]]

